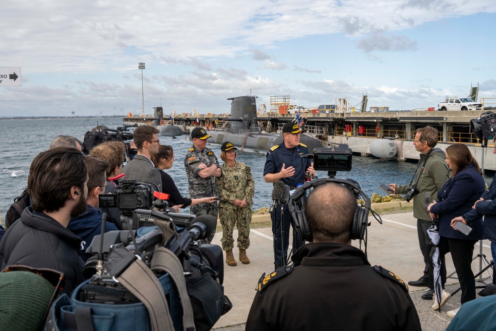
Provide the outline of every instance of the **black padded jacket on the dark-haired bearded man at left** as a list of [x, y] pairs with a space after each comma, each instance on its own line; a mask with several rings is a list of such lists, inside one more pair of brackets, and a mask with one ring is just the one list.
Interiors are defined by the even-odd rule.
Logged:
[[81, 239], [55, 219], [27, 207], [0, 242], [0, 270], [7, 265], [59, 270], [65, 275], [62, 293], [70, 294], [84, 280], [80, 244]]

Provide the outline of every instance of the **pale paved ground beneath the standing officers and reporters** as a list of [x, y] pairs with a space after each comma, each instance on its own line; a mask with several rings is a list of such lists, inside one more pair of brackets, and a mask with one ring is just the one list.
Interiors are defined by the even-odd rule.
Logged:
[[[384, 215], [382, 219], [382, 225], [372, 219], [372, 225], [369, 227], [367, 253], [370, 263], [382, 265], [395, 272], [406, 282], [418, 279], [424, 266], [418, 247], [416, 219], [413, 218], [412, 212]], [[220, 244], [221, 234], [218, 231], [213, 243]], [[237, 233], [235, 232], [235, 238], [236, 236]], [[251, 261], [249, 265], [242, 265], [240, 262], [235, 267], [225, 265], [225, 293], [233, 302], [233, 309], [221, 317], [214, 326], [215, 330], [245, 330], [245, 322], [255, 295], [254, 288], [258, 278], [263, 272], [273, 270], [271, 229], [269, 227], [252, 229], [250, 241], [250, 248], [247, 250], [247, 255]], [[358, 242], [354, 241], [353, 245], [358, 247]], [[479, 253], [479, 249], [480, 246], [477, 244], [474, 254]], [[238, 260], [238, 249], [235, 248], [233, 252], [235, 252], [235, 258]], [[487, 256], [488, 260], [491, 260], [490, 243], [487, 240], [483, 242], [483, 254]], [[479, 262], [480, 259], [477, 258], [472, 264], [474, 273], [479, 271]], [[448, 273], [454, 271], [449, 254], [446, 255], [446, 267]], [[488, 273], [486, 272], [485, 275], [488, 276]], [[447, 284], [451, 285], [447, 285], [446, 289], [453, 292], [458, 288], [457, 282], [456, 279], [448, 279]], [[425, 331], [443, 331], [451, 320], [446, 316], [446, 312], [460, 305], [460, 292], [456, 293], [446, 306], [441, 308], [441, 313], [438, 313], [431, 309], [432, 300], [420, 298], [425, 289], [425, 287], [410, 287], [410, 295], [419, 313], [422, 329]]]

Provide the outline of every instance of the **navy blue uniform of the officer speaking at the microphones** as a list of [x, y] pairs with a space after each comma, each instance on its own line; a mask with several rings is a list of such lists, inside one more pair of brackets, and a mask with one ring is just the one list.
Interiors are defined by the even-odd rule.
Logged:
[[[286, 169], [292, 166], [295, 168], [295, 174], [292, 177], [282, 178], [281, 181], [288, 185], [291, 190], [294, 190], [299, 184], [305, 183], [305, 172], [311, 166], [311, 159], [303, 158], [304, 155], [309, 153], [309, 150], [307, 146], [302, 143], [292, 148], [292, 150], [293, 151], [286, 148], [284, 143], [271, 147], [267, 152], [263, 176], [278, 173], [281, 171], [283, 163]], [[272, 219], [272, 234], [276, 239], [274, 242], [275, 263], [277, 267], [280, 267], [285, 265], [285, 261], [287, 260], [289, 230], [290, 224], [293, 224], [288, 205], [284, 205], [284, 261], [281, 260], [281, 205], [279, 202], [276, 205], [276, 211], [270, 215], [270, 218]], [[302, 246], [298, 236], [296, 236], [295, 246], [296, 247], [293, 247], [295, 250]]]

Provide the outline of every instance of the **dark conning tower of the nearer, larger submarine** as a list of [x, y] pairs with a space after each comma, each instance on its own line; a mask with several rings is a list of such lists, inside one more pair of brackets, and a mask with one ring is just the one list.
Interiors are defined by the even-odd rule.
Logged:
[[231, 117], [228, 132], [246, 134], [259, 133], [256, 118], [256, 101], [254, 96], [229, 98], [231, 102]]

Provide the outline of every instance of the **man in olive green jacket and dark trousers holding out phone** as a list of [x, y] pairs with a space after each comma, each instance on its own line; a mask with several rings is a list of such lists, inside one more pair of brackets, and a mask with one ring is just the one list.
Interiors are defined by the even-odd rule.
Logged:
[[[437, 130], [433, 127], [417, 129], [415, 149], [420, 152], [420, 160], [410, 185], [389, 184], [395, 194], [407, 194], [411, 192], [412, 185], [415, 188], [413, 196], [413, 216], [417, 218], [417, 233], [419, 236], [420, 251], [424, 257], [424, 274], [414, 281], [409, 281], [411, 286], [429, 286], [429, 290], [422, 295], [422, 299], [431, 300], [434, 295], [434, 279], [429, 276], [429, 265], [432, 261], [429, 257], [433, 247], [427, 235], [427, 230], [432, 224], [431, 216], [427, 206], [437, 197], [437, 193], [448, 180], [449, 169], [444, 161], [446, 154], [440, 148], [434, 148], [437, 144]], [[430, 195], [429, 203], [426, 195]], [[427, 203], [427, 204], [426, 204]], [[444, 265], [444, 261], [442, 261]]]

